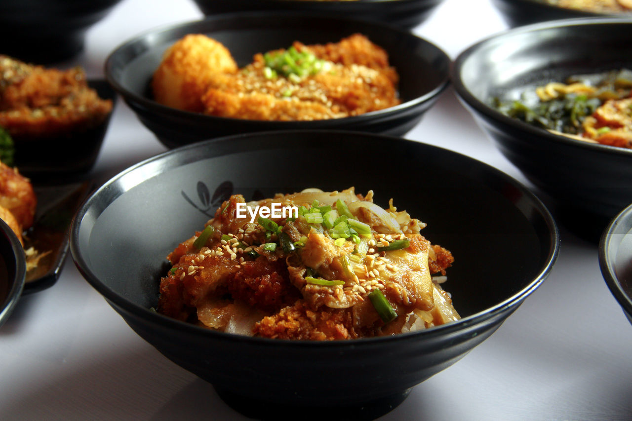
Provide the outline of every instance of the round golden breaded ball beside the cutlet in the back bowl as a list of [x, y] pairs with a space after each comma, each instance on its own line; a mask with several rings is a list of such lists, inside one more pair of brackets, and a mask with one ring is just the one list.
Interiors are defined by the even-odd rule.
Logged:
[[165, 52], [154, 73], [154, 99], [163, 105], [193, 112], [204, 110], [202, 95], [219, 73], [238, 70], [231, 53], [206, 35], [189, 34]]

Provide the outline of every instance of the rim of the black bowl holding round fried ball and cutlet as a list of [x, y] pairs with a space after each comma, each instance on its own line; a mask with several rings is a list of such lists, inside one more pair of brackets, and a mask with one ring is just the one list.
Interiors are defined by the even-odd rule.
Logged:
[[[391, 1], [391, 0], [388, 0], [388, 1]], [[322, 3], [322, 1], [319, 1], [318, 3]], [[143, 39], [146, 39], [147, 37], [151, 35], [162, 34], [164, 32], [169, 32], [169, 31], [178, 31], [178, 30], [185, 29], [187, 27], [195, 26], [195, 25], [207, 25], [216, 21], [240, 20], [240, 19], [245, 19], [245, 18], [267, 18], [269, 19], [269, 21], [274, 21], [274, 18], [275, 17], [278, 18], [279, 16], [303, 18], [307, 20], [318, 19], [318, 20], [330, 20], [330, 21], [345, 21], [345, 22], [354, 23], [356, 25], [372, 26], [385, 32], [391, 32], [392, 34], [397, 33], [403, 37], [407, 37], [408, 39], [416, 39], [416, 42], [421, 42], [422, 44], [427, 45], [428, 47], [434, 49], [439, 56], [441, 56], [442, 62], [446, 64], [446, 71], [444, 72], [443, 75], [437, 72], [437, 75], [439, 75], [441, 78], [441, 82], [438, 83], [437, 86], [435, 86], [434, 88], [432, 88], [432, 90], [426, 92], [425, 94], [421, 95], [420, 97], [415, 97], [411, 99], [410, 101], [401, 102], [401, 104], [398, 104], [396, 106], [380, 109], [377, 111], [370, 111], [369, 113], [360, 114], [358, 116], [349, 116], [349, 117], [332, 118], [332, 119], [320, 119], [320, 120], [311, 120], [311, 121], [250, 120], [250, 119], [242, 119], [242, 118], [211, 116], [204, 113], [194, 113], [192, 111], [184, 111], [181, 109], [176, 109], [173, 107], [159, 104], [159, 102], [156, 102], [153, 99], [149, 99], [145, 97], [144, 95], [138, 95], [132, 90], [126, 88], [125, 85], [123, 85], [123, 83], [120, 83], [118, 79], [112, 75], [113, 73], [112, 69], [114, 68], [114, 64], [113, 64], [114, 59], [116, 59], [116, 57], [119, 54], [123, 54], [122, 52], [125, 51], [126, 49], [130, 49], [130, 47], [133, 46], [133, 44], [137, 44], [137, 43], [140, 44], [140, 42]], [[175, 41], [176, 40], [173, 40], [173, 42]], [[149, 51], [149, 49], [144, 48], [142, 52], [136, 52], [135, 57], [138, 57], [140, 54], [147, 51]], [[386, 23], [378, 23], [375, 21], [362, 20], [362, 19], [329, 16], [320, 12], [317, 13], [317, 12], [305, 12], [305, 11], [279, 10], [279, 11], [248, 11], [248, 12], [221, 13], [214, 16], [205, 16], [205, 18], [202, 18], [199, 20], [188, 20], [188, 21], [179, 22], [179, 23], [171, 23], [171, 24], [166, 24], [166, 25], [161, 25], [159, 27], [151, 28], [149, 30], [145, 30], [144, 32], [141, 32], [140, 34], [135, 35], [131, 39], [126, 40], [125, 42], [123, 42], [123, 44], [119, 44], [119, 46], [117, 46], [114, 50], [110, 52], [110, 54], [108, 54], [106, 61], [104, 63], [104, 73], [105, 73], [107, 82], [112, 85], [114, 90], [116, 90], [116, 92], [118, 92], [118, 94], [121, 95], [121, 97], [123, 97], [123, 99], [125, 99], [126, 102], [129, 102], [129, 101], [135, 102], [135, 104], [138, 104], [138, 106], [142, 106], [143, 109], [150, 112], [159, 113], [162, 115], [167, 114], [170, 116], [174, 116], [176, 118], [185, 118], [185, 119], [190, 119], [190, 120], [194, 119], [195, 121], [198, 121], [200, 123], [216, 122], [219, 124], [222, 121], [230, 121], [232, 123], [245, 121], [248, 123], [257, 123], [257, 125], [262, 126], [261, 130], [274, 130], [275, 128], [278, 128], [279, 124], [288, 126], [289, 129], [291, 128], [318, 129], [318, 128], [324, 128], [327, 126], [338, 126], [340, 124], [339, 122], [353, 124], [357, 121], [362, 122], [363, 120], [366, 120], [366, 119], [389, 118], [392, 116], [397, 116], [400, 113], [405, 113], [406, 111], [409, 111], [410, 109], [414, 109], [415, 107], [424, 104], [430, 99], [437, 97], [437, 95], [441, 94], [441, 92], [443, 92], [443, 90], [445, 90], [449, 86], [451, 64], [452, 64], [452, 59], [443, 49], [441, 49], [441, 47], [437, 46], [436, 44], [434, 44], [433, 42], [430, 42], [427, 39], [424, 39], [422, 37], [419, 37], [418, 35], [413, 34], [410, 31], [403, 30], [393, 25], [388, 25]], [[430, 70], [434, 70], [436, 66], [432, 66], [432, 67], [428, 66], [428, 68]], [[300, 126], [297, 126], [297, 125], [300, 125]]]

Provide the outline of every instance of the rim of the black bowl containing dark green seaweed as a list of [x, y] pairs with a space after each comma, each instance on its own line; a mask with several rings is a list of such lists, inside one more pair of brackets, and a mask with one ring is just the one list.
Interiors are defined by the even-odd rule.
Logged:
[[581, 140], [576, 140], [573, 138], [566, 137], [564, 135], [556, 135], [551, 133], [548, 130], [543, 128], [539, 128], [536, 126], [529, 125], [519, 119], [511, 118], [502, 114], [500, 111], [497, 111], [493, 107], [485, 104], [485, 102], [480, 101], [475, 95], [471, 93], [471, 91], [465, 86], [463, 79], [461, 78], [463, 66], [467, 63], [468, 59], [471, 56], [477, 54], [480, 49], [489, 45], [491, 42], [495, 42], [499, 39], [503, 39], [504, 37], [513, 37], [514, 35], [534, 33], [540, 30], [548, 30], [551, 28], [562, 28], [562, 27], [592, 27], [594, 25], [628, 25], [632, 27], [632, 20], [629, 18], [615, 18], [615, 17], [604, 17], [604, 18], [573, 18], [573, 19], [561, 19], [561, 20], [550, 20], [544, 22], [533, 23], [531, 25], [525, 25], [522, 27], [516, 27], [509, 30], [505, 30], [502, 32], [498, 32], [496, 34], [490, 35], [489, 37], [485, 37], [484, 39], [476, 42], [475, 44], [467, 47], [464, 51], [462, 51], [456, 59], [454, 59], [453, 66], [450, 71], [451, 82], [453, 83], [454, 90], [456, 90], [458, 96], [460, 97], [462, 102], [465, 102], [466, 105], [473, 108], [477, 113], [481, 114], [486, 119], [491, 119], [496, 123], [501, 123], [503, 126], [509, 126], [514, 130], [526, 131], [532, 136], [542, 137], [549, 142], [556, 142], [562, 145], [568, 145], [569, 147], [577, 148], [577, 149], [586, 149], [592, 152], [601, 152], [605, 154], [617, 154], [620, 156], [629, 156], [632, 157], [632, 149], [611, 146], [611, 145], [602, 145], [601, 143], [590, 143], [583, 142]]

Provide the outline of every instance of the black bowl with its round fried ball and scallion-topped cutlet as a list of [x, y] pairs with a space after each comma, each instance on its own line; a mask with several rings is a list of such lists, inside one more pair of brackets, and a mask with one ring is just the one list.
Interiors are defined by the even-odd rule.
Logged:
[[[169, 61], [171, 66], [165, 65], [161, 78], [156, 79], [159, 83], [152, 82], [154, 72], [162, 68], [167, 48], [188, 34], [204, 34], [214, 40], [191, 35], [187, 39], [193, 39], [193, 45], [177, 44], [178, 54], [188, 57], [192, 52], [190, 61], [186, 66]], [[354, 34], [365, 35], [379, 47], [356, 42], [359, 38], [351, 37]], [[256, 71], [236, 70], [250, 63], [257, 52], [288, 48], [295, 41], [308, 46], [337, 43], [345, 37], [351, 38], [342, 47], [318, 47], [317, 54], [327, 56], [327, 60], [305, 53], [311, 60], [305, 63], [319, 62], [321, 70], [304, 78], [282, 76], [282, 69], [277, 73], [267, 65]], [[389, 66], [399, 75], [398, 83], [392, 83], [391, 78], [396, 76], [384, 66], [384, 51]], [[298, 59], [286, 59], [298, 62], [304, 53], [298, 54]], [[343, 66], [329, 59], [351, 63]], [[382, 67], [375, 70], [358, 66], [356, 60]], [[209, 67], [206, 61], [215, 64]], [[403, 135], [420, 121], [447, 86], [449, 64], [447, 55], [433, 44], [378, 23], [281, 12], [244, 13], [146, 32], [112, 52], [106, 62], [106, 76], [140, 121], [171, 148], [223, 135], [269, 130], [339, 129]], [[233, 74], [218, 76], [220, 68]], [[195, 69], [192, 75], [188, 74], [190, 69]], [[358, 76], [353, 76], [356, 73]], [[161, 103], [154, 99], [157, 92], [165, 97], [161, 97]], [[384, 104], [392, 106], [384, 108]], [[367, 112], [355, 115], [360, 109]], [[282, 121], [287, 119], [294, 121]]]

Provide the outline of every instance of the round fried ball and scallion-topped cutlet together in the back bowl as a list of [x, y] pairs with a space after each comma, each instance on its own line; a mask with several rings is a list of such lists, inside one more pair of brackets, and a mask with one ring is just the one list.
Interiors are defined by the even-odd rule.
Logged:
[[[288, 66], [298, 72], [284, 70]], [[187, 35], [154, 73], [154, 98], [186, 111], [276, 121], [357, 116], [400, 103], [398, 74], [386, 51], [361, 34], [325, 45], [295, 42], [255, 54], [236, 70], [222, 44]]]

